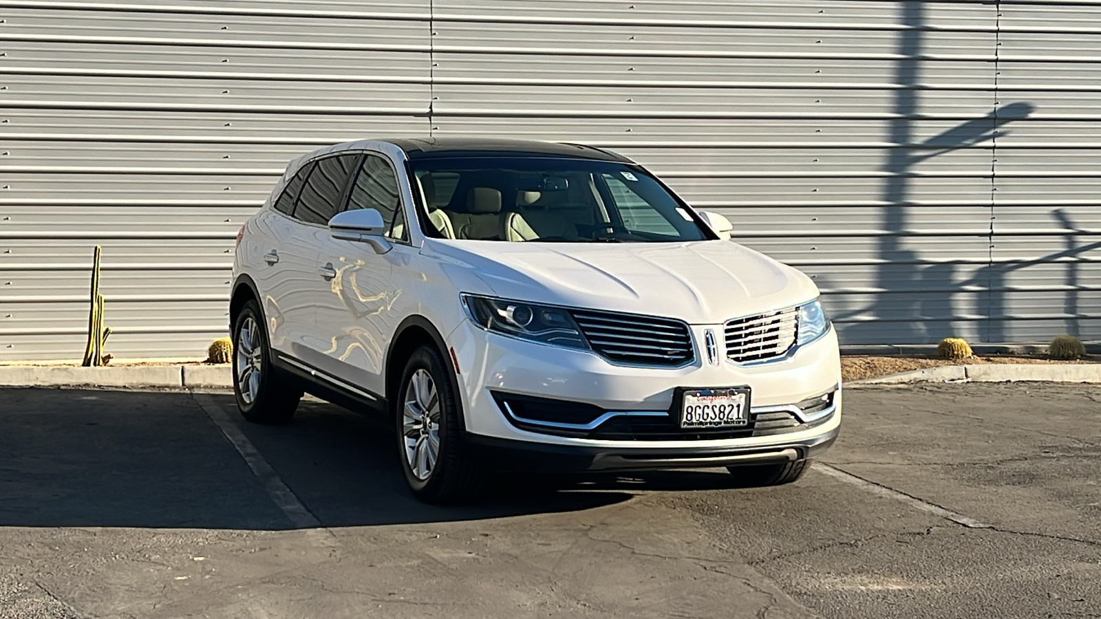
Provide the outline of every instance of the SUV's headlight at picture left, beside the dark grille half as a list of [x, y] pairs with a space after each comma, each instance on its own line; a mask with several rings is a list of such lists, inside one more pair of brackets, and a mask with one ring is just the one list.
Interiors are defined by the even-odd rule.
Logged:
[[565, 348], [589, 349], [569, 312], [523, 301], [464, 294], [470, 319], [486, 330]]

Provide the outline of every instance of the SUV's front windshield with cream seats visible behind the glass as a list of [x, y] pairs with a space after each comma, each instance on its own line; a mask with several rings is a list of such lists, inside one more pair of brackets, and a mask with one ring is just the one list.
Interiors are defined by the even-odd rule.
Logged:
[[617, 162], [456, 158], [410, 162], [426, 236], [536, 242], [711, 238], [656, 178]]

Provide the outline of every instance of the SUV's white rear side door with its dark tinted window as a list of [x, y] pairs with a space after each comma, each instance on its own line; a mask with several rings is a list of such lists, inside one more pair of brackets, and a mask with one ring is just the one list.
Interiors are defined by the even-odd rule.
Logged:
[[287, 306], [283, 314], [288, 324], [288, 348], [293, 360], [316, 367], [324, 359], [329, 343], [317, 333], [317, 301], [327, 285], [325, 273], [317, 270], [320, 247], [329, 239], [329, 219], [339, 210], [351, 171], [359, 153], [328, 155], [313, 163], [295, 200], [292, 218], [295, 229], [280, 250], [280, 263], [286, 264], [284, 295]]

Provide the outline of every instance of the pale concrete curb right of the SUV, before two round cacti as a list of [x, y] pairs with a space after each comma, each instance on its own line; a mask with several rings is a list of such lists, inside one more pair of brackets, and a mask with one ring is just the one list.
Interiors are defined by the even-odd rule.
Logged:
[[914, 382], [1097, 382], [1101, 383], [1101, 363], [983, 363], [941, 366], [900, 372], [866, 380], [859, 384], [908, 384]]

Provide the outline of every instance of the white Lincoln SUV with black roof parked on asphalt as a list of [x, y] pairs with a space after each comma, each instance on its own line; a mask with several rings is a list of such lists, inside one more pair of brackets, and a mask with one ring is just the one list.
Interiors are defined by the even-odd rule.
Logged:
[[838, 434], [837, 337], [815, 284], [730, 230], [591, 146], [315, 151], [238, 238], [238, 405], [381, 411], [429, 502], [498, 469], [793, 481]]

